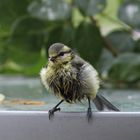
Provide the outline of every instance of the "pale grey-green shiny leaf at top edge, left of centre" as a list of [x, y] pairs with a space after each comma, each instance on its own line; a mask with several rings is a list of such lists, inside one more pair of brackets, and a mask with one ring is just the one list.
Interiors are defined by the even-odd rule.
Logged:
[[33, 1], [28, 11], [36, 18], [42, 20], [66, 20], [71, 16], [71, 6], [64, 0]]

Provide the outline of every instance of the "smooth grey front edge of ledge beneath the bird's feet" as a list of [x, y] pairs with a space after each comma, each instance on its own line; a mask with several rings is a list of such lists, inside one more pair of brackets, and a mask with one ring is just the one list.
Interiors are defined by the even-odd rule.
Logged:
[[57, 113], [1, 111], [0, 140], [139, 140], [140, 112]]

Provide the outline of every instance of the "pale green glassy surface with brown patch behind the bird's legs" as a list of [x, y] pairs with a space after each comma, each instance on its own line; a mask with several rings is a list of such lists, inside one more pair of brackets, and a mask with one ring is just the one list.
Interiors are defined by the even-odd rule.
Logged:
[[[140, 111], [139, 90], [104, 89], [100, 92], [121, 111]], [[59, 101], [47, 93], [37, 78], [0, 77], [0, 93], [5, 95], [0, 110], [49, 110]], [[60, 107], [62, 111], [82, 112], [86, 111], [87, 102], [76, 105], [63, 103]]]

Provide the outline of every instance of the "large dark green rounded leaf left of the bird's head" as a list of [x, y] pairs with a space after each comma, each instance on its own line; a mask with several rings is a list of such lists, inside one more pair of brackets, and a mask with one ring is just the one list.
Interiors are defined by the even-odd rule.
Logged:
[[45, 26], [42, 21], [31, 17], [15, 21], [8, 40], [9, 57], [19, 65], [35, 63], [44, 44]]

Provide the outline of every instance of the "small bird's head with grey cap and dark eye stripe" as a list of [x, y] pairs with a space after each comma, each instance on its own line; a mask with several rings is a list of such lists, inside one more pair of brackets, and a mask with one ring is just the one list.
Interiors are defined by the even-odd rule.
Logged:
[[62, 43], [52, 44], [48, 50], [48, 54], [49, 62], [55, 65], [67, 64], [73, 58], [71, 48]]

